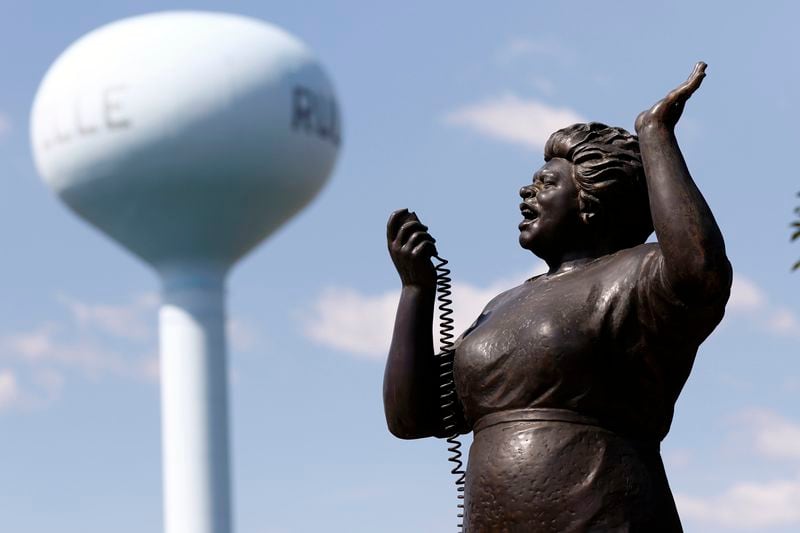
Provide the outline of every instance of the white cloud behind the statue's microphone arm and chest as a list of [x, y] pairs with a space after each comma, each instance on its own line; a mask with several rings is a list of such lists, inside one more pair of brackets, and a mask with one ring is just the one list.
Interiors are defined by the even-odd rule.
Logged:
[[[541, 263], [534, 273], [544, 270]], [[453, 283], [455, 331], [466, 329], [501, 291], [534, 273], [498, 280], [487, 287]], [[320, 344], [360, 357], [383, 358], [389, 350], [399, 300], [399, 290], [366, 295], [352, 288], [331, 287], [322, 292], [311, 313], [304, 313], [303, 329]]]

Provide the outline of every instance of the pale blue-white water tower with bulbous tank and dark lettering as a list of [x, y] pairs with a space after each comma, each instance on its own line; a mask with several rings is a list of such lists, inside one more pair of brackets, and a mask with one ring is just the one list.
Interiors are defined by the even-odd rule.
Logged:
[[31, 114], [45, 183], [155, 268], [167, 533], [230, 533], [225, 277], [317, 194], [340, 143], [309, 49], [241, 16], [103, 26], [53, 63]]

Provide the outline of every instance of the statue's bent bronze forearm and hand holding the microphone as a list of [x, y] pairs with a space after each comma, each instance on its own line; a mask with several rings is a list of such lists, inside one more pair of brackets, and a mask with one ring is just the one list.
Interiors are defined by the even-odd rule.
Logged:
[[403, 284], [383, 378], [383, 407], [389, 431], [401, 439], [441, 433], [437, 367], [433, 357], [435, 240], [407, 209], [389, 217], [387, 241]]

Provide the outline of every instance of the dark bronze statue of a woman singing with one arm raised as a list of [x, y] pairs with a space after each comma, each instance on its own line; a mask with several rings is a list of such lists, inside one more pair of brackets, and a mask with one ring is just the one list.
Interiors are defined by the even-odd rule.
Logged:
[[[549, 270], [490, 301], [455, 346], [459, 429], [474, 432], [468, 533], [681, 531], [659, 446], [732, 277], [674, 133], [705, 68], [638, 116], [638, 138], [555, 132], [520, 190], [520, 245]], [[408, 210], [387, 233], [403, 289], [386, 420], [400, 438], [442, 436], [434, 239]]]

